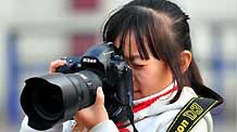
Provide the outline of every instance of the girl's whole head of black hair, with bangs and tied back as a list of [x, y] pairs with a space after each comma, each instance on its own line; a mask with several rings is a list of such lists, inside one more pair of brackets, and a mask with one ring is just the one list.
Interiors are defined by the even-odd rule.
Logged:
[[188, 69], [185, 72], [180, 70], [180, 52], [191, 52], [188, 19], [189, 16], [171, 1], [134, 0], [108, 19], [103, 28], [103, 41], [114, 42], [120, 36], [120, 49], [123, 52], [126, 35], [134, 31], [140, 58], [149, 60], [150, 50], [155, 58], [164, 61], [171, 68], [173, 80], [177, 81], [179, 88], [171, 101], [173, 103], [179, 97], [183, 87], [194, 89], [197, 84], [203, 85], [194, 56]]

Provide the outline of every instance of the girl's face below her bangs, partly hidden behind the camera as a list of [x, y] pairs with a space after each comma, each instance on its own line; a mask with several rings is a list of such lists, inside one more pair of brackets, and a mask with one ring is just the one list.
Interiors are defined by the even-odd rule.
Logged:
[[[120, 37], [115, 39], [114, 45], [116, 48], [120, 47]], [[158, 93], [173, 81], [172, 72], [167, 65], [163, 61], [154, 58], [149, 50], [147, 51], [149, 52], [149, 60], [141, 60], [134, 32], [132, 31], [130, 35], [126, 36], [124, 58], [133, 70], [134, 100]]]

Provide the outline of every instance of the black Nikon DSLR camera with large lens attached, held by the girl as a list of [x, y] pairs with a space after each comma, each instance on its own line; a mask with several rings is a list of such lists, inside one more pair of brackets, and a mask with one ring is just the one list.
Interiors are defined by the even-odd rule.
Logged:
[[112, 42], [96, 44], [83, 56], [65, 57], [57, 72], [25, 80], [21, 106], [28, 126], [48, 130], [73, 119], [77, 110], [92, 105], [102, 87], [104, 105], [115, 123], [133, 118], [132, 70]]

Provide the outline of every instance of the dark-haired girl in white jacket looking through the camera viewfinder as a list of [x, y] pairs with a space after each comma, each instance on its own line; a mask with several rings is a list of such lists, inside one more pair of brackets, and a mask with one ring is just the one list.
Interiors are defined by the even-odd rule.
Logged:
[[[200, 89], [203, 83], [191, 53], [188, 19], [173, 2], [134, 0], [104, 25], [103, 41], [113, 42], [133, 70], [135, 128], [129, 123], [115, 126], [109, 119], [102, 89], [98, 88], [96, 103], [79, 110], [75, 121], [48, 131], [166, 132], [192, 97], [209, 96], [203, 87]], [[64, 61], [52, 62], [50, 72], [64, 64]], [[27, 117], [21, 131], [35, 131], [27, 126]], [[191, 132], [212, 131], [210, 113], [191, 129]]]

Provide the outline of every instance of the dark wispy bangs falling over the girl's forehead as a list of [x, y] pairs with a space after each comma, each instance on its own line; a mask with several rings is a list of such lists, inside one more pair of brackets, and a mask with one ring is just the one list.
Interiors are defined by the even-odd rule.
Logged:
[[[160, 15], [142, 6], [125, 6], [113, 14], [104, 25], [103, 40], [114, 42], [118, 37], [121, 54], [124, 53], [126, 37], [130, 38], [134, 32], [136, 47], [141, 60], [149, 60], [149, 52], [158, 60], [163, 60], [164, 47], [166, 44], [167, 24]], [[129, 41], [130, 53], [130, 41]], [[129, 55], [130, 56], [130, 55]]]

